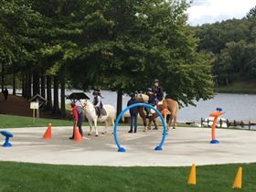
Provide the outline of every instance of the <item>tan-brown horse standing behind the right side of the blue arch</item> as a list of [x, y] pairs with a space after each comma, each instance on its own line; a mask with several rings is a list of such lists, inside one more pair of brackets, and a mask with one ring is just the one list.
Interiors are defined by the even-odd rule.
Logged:
[[[146, 94], [137, 94], [136, 98], [137, 98], [137, 101], [144, 102], [144, 103], [147, 103], [148, 99], [149, 99], [149, 97]], [[176, 129], [176, 117], [177, 117], [177, 112], [179, 110], [178, 102], [175, 100], [172, 100], [172, 99], [165, 99], [165, 100], [159, 102], [159, 104], [156, 106], [156, 109], [159, 112], [162, 112], [164, 109], [169, 110], [169, 112], [171, 112], [171, 114], [170, 114], [171, 118], [167, 123], [167, 129], [170, 128], [173, 120], [174, 120], [173, 128]], [[139, 108], [139, 113], [140, 113], [141, 118], [143, 119], [145, 130], [151, 129], [152, 122], [155, 123], [155, 129], [157, 129], [157, 123], [155, 122], [155, 118], [158, 117], [158, 114], [156, 112], [153, 113], [152, 116], [149, 117], [148, 127], [146, 126], [147, 123], [146, 123], [146, 115], [144, 113], [144, 107]]]

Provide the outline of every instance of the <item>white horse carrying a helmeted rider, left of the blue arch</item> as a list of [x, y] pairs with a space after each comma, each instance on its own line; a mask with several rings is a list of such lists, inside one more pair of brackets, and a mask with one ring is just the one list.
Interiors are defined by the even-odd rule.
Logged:
[[103, 105], [103, 108], [106, 111], [106, 115], [100, 116], [99, 118], [91, 101], [81, 100], [80, 102], [84, 106], [83, 110], [90, 124], [90, 132], [88, 134], [91, 135], [92, 122], [94, 123], [95, 136], [99, 136], [99, 132], [97, 129], [97, 122], [105, 123], [105, 129], [103, 134], [107, 133], [108, 126], [111, 123], [112, 125], [114, 124], [115, 115], [116, 115], [116, 111], [114, 107], [109, 104]]

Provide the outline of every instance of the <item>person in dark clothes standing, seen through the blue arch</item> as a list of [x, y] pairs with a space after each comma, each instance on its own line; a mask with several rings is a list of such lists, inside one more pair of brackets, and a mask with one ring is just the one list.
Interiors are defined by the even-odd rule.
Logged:
[[[135, 96], [136, 95], [134, 93], [131, 94], [131, 99], [127, 102], [127, 106], [138, 103]], [[133, 107], [133, 108], [130, 109], [131, 128], [130, 128], [130, 131], [128, 133], [133, 133], [133, 127], [134, 127], [134, 133], [137, 132], [138, 113], [139, 113], [139, 108], [138, 107]]]

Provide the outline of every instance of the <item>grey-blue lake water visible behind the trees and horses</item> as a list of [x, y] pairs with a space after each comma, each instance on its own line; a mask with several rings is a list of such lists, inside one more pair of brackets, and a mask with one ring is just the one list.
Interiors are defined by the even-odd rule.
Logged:
[[[66, 95], [73, 91], [67, 90]], [[11, 90], [10, 90], [11, 92]], [[59, 91], [60, 92], [60, 91]], [[101, 91], [104, 104], [112, 104], [116, 107], [117, 94], [112, 91]], [[92, 99], [91, 92], [87, 92]], [[129, 96], [123, 95], [123, 109], [126, 107]], [[70, 101], [66, 101], [67, 103]], [[178, 121], [200, 121], [201, 117], [208, 117], [210, 112], [214, 112], [217, 107], [221, 107], [225, 114], [223, 118], [243, 121], [256, 121], [256, 95], [255, 94], [228, 94], [218, 93], [208, 101], [196, 101], [197, 107], [188, 106], [180, 109]]]

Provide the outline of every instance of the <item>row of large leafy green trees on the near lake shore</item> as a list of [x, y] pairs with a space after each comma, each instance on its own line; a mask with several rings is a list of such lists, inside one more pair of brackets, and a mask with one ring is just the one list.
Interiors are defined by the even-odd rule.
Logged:
[[213, 59], [197, 50], [185, 0], [0, 0], [0, 5], [2, 89], [5, 76], [12, 76], [14, 90], [20, 82], [24, 98], [41, 94], [54, 113], [65, 114], [67, 84], [117, 91], [118, 112], [124, 93], [144, 91], [155, 78], [184, 105], [213, 95]]

